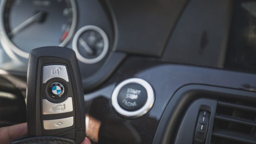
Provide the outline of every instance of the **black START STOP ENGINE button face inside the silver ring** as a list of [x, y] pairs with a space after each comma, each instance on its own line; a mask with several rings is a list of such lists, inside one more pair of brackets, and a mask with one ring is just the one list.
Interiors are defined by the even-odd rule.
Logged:
[[137, 83], [125, 85], [118, 94], [118, 104], [127, 111], [140, 109], [147, 99], [147, 90]]

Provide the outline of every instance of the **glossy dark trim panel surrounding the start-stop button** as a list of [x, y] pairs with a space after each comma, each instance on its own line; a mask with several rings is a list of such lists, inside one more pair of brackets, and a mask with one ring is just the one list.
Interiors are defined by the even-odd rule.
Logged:
[[[154, 106], [145, 116], [126, 119], [114, 111], [110, 99], [115, 86], [132, 77], [149, 82], [154, 88], [156, 98]], [[99, 143], [152, 143], [166, 105], [181, 87], [200, 84], [250, 91], [251, 88], [244, 85], [254, 87], [255, 80], [254, 74], [163, 64], [156, 59], [132, 57], [122, 64], [102, 88], [85, 94], [85, 104], [88, 106], [87, 114], [101, 122]]]

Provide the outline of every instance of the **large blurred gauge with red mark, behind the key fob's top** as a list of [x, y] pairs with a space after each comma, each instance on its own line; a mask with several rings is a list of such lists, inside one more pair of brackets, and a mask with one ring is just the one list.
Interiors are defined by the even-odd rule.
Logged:
[[2, 0], [0, 40], [3, 47], [28, 58], [42, 46], [65, 46], [77, 21], [74, 0]]

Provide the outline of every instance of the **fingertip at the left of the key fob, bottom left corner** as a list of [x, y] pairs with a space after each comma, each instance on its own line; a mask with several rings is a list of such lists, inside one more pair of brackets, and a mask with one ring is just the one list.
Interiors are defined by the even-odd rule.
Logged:
[[0, 128], [1, 144], [8, 144], [11, 140], [27, 135], [27, 123]]

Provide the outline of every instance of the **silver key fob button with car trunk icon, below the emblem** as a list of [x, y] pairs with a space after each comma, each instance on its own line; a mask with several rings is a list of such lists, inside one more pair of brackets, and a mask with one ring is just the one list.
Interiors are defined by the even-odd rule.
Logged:
[[61, 103], [51, 103], [47, 99], [42, 100], [43, 114], [58, 114], [73, 111], [72, 97], [68, 97]]

